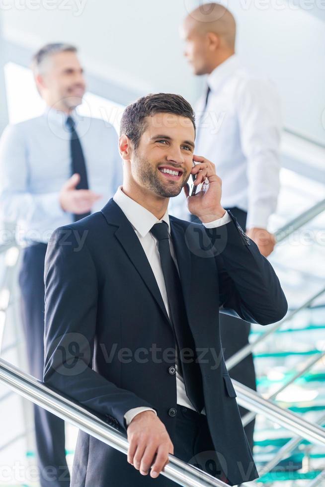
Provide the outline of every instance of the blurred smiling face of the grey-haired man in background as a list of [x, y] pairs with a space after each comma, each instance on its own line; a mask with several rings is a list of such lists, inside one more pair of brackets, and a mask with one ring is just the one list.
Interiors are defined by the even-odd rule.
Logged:
[[48, 105], [70, 111], [82, 103], [85, 91], [83, 70], [76, 53], [52, 55], [37, 76], [37, 84]]

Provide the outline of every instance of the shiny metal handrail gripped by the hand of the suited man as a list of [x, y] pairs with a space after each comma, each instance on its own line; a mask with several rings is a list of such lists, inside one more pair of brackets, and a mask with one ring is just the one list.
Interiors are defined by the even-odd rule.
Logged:
[[[128, 441], [125, 436], [85, 408], [52, 391], [34, 377], [21, 372], [2, 359], [0, 359], [0, 382], [29, 401], [69, 421], [107, 445], [124, 454], [127, 453]], [[186, 464], [173, 455], [169, 455], [168, 459], [169, 463], [165, 466], [162, 475], [180, 486], [227, 487], [224, 482], [215, 479], [196, 467]]]

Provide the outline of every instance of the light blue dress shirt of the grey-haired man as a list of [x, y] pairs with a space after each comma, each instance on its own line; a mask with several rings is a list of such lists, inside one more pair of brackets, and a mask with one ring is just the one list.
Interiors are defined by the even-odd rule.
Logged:
[[[89, 189], [102, 197], [100, 210], [123, 181], [118, 136], [109, 123], [72, 114], [87, 167]], [[8, 125], [0, 139], [0, 205], [2, 220], [16, 223], [18, 243], [47, 243], [52, 232], [73, 222], [60, 206], [59, 193], [71, 177], [70, 131], [64, 112], [48, 108], [43, 115]]]

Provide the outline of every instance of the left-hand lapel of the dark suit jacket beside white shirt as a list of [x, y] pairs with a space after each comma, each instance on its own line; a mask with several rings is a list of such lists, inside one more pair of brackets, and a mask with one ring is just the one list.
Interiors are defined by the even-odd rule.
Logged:
[[110, 199], [107, 205], [102, 209], [102, 214], [104, 215], [108, 224], [118, 226], [118, 229], [115, 232], [115, 237], [124, 248], [129, 259], [137, 269], [150, 293], [153, 295], [158, 306], [161, 308], [164, 317], [171, 326], [155, 275], [149, 264], [145, 251], [129, 220], [113, 199]]

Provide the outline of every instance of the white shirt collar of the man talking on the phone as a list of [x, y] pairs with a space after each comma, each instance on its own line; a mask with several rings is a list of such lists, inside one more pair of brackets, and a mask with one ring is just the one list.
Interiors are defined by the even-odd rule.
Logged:
[[166, 213], [163, 215], [163, 218], [158, 220], [158, 218], [155, 217], [155, 215], [153, 215], [149, 210], [123, 193], [122, 186], [119, 186], [117, 189], [113, 196], [113, 200], [118, 204], [126, 218], [129, 220], [134, 229], [139, 232], [141, 237], [145, 237], [155, 223], [159, 222], [166, 222], [168, 225], [168, 232], [170, 234], [168, 208]]

